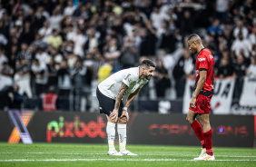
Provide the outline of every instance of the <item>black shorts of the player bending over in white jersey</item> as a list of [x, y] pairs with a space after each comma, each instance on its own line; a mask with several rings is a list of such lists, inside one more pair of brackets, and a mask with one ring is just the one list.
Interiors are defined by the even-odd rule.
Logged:
[[[97, 87], [96, 95], [98, 101], [100, 103], [100, 113], [107, 114], [108, 116], [110, 113], [113, 112], [115, 100], [105, 96], [103, 93], [100, 92], [99, 88]], [[120, 103], [118, 117], [120, 117], [123, 113], [123, 101]]]

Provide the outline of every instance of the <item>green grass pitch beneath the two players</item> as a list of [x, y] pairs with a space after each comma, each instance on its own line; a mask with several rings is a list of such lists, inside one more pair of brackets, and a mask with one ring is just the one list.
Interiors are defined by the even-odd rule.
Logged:
[[[118, 146], [116, 146], [118, 148]], [[216, 161], [192, 161], [200, 147], [128, 145], [138, 156], [108, 156], [106, 144], [70, 143], [0, 143], [0, 167], [70, 167], [70, 166], [256, 166], [256, 150], [213, 148]]]

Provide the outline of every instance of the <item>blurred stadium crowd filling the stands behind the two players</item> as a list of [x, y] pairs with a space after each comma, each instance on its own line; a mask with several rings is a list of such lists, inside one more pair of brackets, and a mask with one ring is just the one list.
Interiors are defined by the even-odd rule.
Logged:
[[[171, 98], [182, 98], [197, 56], [186, 41], [197, 33], [214, 56], [215, 75], [235, 77], [239, 98], [243, 77], [256, 77], [255, 11], [255, 0], [1, 1], [0, 73], [13, 86], [2, 80], [0, 97], [18, 105], [51, 90], [59, 108], [71, 97], [83, 111], [80, 101], [92, 106], [97, 83], [149, 58], [157, 68], [147, 86], [156, 97], [173, 89]], [[143, 89], [140, 96], [151, 95]]]

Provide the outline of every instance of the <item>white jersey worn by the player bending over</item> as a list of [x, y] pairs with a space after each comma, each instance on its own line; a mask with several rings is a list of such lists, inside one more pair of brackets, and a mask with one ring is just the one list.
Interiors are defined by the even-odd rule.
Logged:
[[122, 83], [128, 86], [128, 89], [123, 93], [124, 97], [134, 93], [138, 88], [142, 88], [145, 83], [148, 83], [148, 80], [140, 79], [139, 67], [133, 67], [110, 75], [98, 85], [98, 88], [105, 96], [115, 100]]

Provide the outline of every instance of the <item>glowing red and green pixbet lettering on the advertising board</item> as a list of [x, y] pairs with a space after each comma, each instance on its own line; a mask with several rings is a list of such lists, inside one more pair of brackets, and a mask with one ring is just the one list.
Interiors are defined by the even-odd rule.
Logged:
[[64, 121], [64, 117], [60, 116], [59, 123], [52, 121], [47, 124], [46, 140], [52, 142], [53, 137], [83, 138], [86, 135], [90, 138], [95, 138], [98, 135], [105, 138], [106, 133], [103, 132], [105, 126], [106, 124], [103, 123], [103, 117], [101, 116], [97, 117], [97, 122], [91, 121], [87, 124], [80, 121], [78, 115], [74, 116], [74, 122]]

